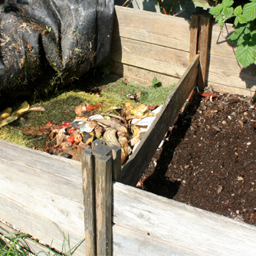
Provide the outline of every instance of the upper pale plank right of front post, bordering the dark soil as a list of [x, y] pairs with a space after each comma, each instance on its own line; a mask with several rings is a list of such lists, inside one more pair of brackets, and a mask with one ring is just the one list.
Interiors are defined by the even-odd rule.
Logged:
[[213, 256], [255, 254], [254, 225], [118, 182], [113, 187], [113, 222], [128, 228], [127, 231], [132, 229], [144, 235], [150, 234], [150, 238], [168, 241], [195, 253]]

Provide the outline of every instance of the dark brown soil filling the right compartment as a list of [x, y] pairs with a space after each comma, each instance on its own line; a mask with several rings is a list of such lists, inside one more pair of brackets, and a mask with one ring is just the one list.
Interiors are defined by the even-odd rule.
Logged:
[[195, 94], [140, 181], [149, 192], [256, 225], [256, 104]]

